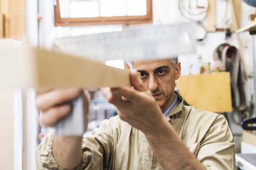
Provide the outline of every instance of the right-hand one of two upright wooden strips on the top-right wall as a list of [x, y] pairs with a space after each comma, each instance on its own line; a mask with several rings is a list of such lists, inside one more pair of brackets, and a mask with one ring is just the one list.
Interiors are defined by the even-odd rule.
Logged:
[[[234, 10], [232, 7], [234, 6]], [[234, 14], [235, 13], [235, 14]], [[241, 1], [231, 0], [231, 31], [235, 32], [240, 29], [241, 20]]]

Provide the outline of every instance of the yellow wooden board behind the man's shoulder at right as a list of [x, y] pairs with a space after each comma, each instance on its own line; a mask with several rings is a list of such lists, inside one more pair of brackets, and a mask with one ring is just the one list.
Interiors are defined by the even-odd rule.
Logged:
[[181, 76], [176, 84], [191, 106], [212, 112], [232, 111], [229, 72]]

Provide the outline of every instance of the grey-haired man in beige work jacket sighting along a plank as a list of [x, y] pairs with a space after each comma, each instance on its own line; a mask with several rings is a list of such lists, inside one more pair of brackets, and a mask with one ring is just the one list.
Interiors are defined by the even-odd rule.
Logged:
[[[133, 66], [133, 89], [103, 90], [119, 116], [103, 121], [92, 137], [46, 137], [36, 152], [37, 168], [235, 169], [233, 137], [225, 118], [184, 106], [174, 91], [181, 63], [167, 59]], [[39, 92], [41, 124], [53, 125], [67, 115], [71, 110], [67, 101], [79, 93], [78, 89]]]

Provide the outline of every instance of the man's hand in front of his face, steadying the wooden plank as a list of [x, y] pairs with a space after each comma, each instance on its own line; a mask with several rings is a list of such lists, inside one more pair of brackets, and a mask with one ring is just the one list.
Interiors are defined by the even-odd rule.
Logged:
[[120, 118], [136, 129], [146, 133], [157, 133], [157, 125], [164, 120], [162, 111], [137, 76], [136, 70], [130, 72], [131, 86], [122, 88], [103, 88], [107, 100], [118, 109]]

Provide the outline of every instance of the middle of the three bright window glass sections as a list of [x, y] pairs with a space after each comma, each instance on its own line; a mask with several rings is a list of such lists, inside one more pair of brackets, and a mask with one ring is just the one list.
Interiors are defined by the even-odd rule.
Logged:
[[100, 0], [100, 17], [126, 16], [125, 0]]

